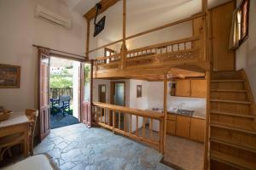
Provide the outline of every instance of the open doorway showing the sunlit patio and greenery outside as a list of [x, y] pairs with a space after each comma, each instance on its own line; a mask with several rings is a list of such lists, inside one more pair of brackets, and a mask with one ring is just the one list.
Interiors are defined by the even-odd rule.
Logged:
[[50, 57], [50, 128], [79, 123], [80, 62]]

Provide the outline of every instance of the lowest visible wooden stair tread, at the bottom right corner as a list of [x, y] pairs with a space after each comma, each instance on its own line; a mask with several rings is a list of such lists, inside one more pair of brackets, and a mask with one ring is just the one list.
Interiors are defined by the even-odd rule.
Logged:
[[232, 167], [255, 169], [256, 163], [243, 160], [239, 157], [230, 156], [215, 150], [211, 151], [211, 159], [228, 164]]

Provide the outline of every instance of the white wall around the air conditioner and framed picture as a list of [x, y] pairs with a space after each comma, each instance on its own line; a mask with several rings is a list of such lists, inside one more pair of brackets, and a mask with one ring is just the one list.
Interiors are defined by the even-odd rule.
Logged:
[[[72, 29], [34, 18], [37, 3], [70, 17]], [[38, 54], [32, 44], [84, 54], [84, 19], [56, 0], [1, 0], [0, 22], [0, 63], [21, 66], [20, 88], [1, 88], [0, 105], [14, 111], [37, 108]]]

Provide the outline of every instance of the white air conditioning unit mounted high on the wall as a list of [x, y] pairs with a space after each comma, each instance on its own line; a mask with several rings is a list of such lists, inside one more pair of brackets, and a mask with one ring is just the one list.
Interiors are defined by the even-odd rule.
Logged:
[[35, 8], [35, 16], [40, 19], [48, 20], [55, 25], [62, 26], [64, 28], [71, 28], [71, 20], [67, 19], [60, 14], [56, 14], [55, 12], [50, 11], [47, 8], [42, 7], [41, 5], [37, 5]]

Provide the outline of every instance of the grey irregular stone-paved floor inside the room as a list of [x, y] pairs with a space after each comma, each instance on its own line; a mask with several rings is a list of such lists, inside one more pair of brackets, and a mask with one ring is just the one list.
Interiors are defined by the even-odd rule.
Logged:
[[51, 130], [34, 152], [49, 154], [61, 170], [172, 169], [160, 163], [162, 156], [157, 150], [84, 124]]

